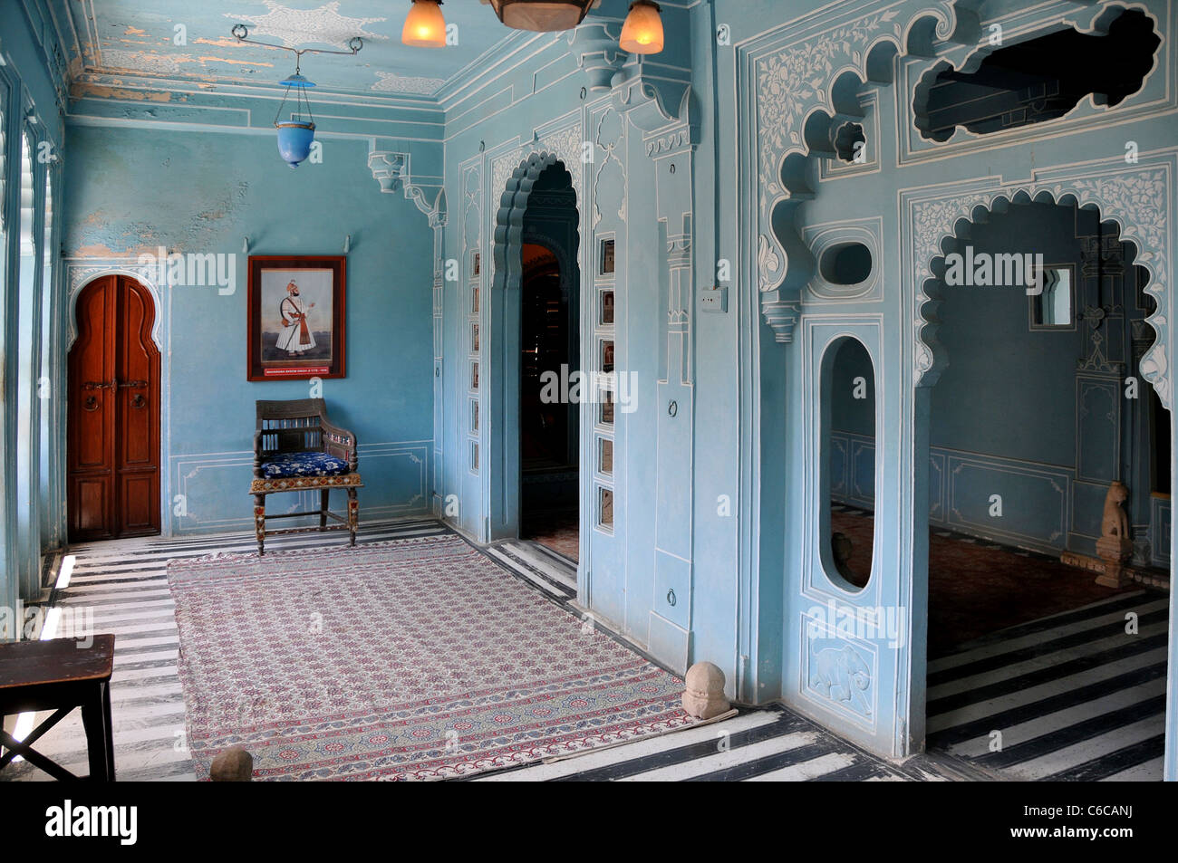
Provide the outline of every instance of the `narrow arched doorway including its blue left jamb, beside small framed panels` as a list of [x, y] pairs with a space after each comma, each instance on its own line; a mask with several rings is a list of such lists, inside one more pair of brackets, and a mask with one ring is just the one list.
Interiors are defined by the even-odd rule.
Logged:
[[555, 154], [534, 154], [508, 181], [495, 231], [484, 372], [489, 539], [538, 529], [569, 557], [582, 473], [578, 246], [573, 177]]

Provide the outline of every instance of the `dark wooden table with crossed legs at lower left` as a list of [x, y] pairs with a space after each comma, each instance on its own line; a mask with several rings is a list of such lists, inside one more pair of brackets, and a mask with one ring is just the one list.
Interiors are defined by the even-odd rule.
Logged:
[[90, 778], [114, 782], [114, 741], [111, 733], [111, 672], [114, 636], [94, 636], [88, 648], [74, 638], [0, 644], [0, 717], [39, 710], [54, 711], [24, 741], [0, 729], [0, 770], [18, 755], [57, 779], [78, 779], [68, 770], [32, 749], [32, 744], [81, 708], [90, 755]]

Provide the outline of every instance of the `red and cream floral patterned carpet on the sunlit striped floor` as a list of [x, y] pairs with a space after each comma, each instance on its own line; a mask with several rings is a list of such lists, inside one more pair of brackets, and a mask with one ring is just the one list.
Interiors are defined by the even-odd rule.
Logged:
[[455, 536], [173, 560], [198, 778], [439, 779], [694, 723], [682, 681]]

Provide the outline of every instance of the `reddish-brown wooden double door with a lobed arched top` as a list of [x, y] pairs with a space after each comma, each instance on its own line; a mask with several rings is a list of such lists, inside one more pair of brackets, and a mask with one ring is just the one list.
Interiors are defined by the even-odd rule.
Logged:
[[125, 276], [87, 285], [70, 350], [71, 542], [159, 533], [155, 305]]

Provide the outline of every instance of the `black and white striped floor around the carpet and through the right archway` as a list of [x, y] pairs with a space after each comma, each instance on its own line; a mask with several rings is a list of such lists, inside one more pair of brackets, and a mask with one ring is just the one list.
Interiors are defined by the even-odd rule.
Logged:
[[[446, 526], [431, 519], [373, 523], [362, 527], [358, 542], [445, 532], [450, 532]], [[279, 537], [267, 547], [323, 542], [312, 533]], [[179, 645], [167, 560], [254, 547], [252, 535], [233, 533], [71, 549], [77, 563], [55, 602], [92, 609], [94, 630], [118, 637], [112, 713], [120, 781], [196, 778], [183, 745], [184, 699], [176, 670]], [[580, 613], [573, 604], [573, 562], [525, 540], [483, 551], [554, 603]], [[1160, 778], [1165, 608], [1166, 597], [1160, 595], [1114, 597], [995, 633], [934, 660], [928, 681], [933, 751], [904, 764], [862, 752], [775, 706], [474, 779]], [[1139, 615], [1140, 633], [1132, 638], [1124, 635], [1126, 611]], [[988, 750], [993, 730], [1002, 731], [1001, 752]], [[77, 774], [86, 772], [85, 736], [75, 715], [39, 741], [38, 749]], [[7, 781], [47, 778], [26, 763], [0, 771], [0, 779]]]

